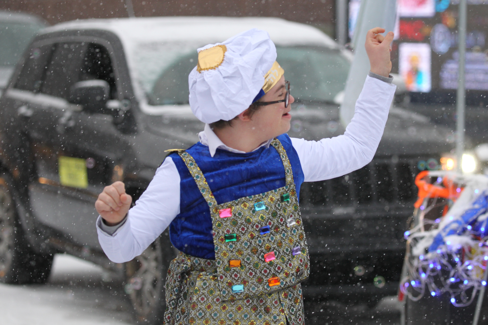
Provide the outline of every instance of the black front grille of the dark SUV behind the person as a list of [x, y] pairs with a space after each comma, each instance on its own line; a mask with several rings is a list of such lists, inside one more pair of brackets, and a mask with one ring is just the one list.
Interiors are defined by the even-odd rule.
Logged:
[[432, 157], [375, 158], [365, 167], [331, 180], [303, 183], [300, 205], [347, 207], [392, 203], [410, 205], [417, 197], [417, 164]]

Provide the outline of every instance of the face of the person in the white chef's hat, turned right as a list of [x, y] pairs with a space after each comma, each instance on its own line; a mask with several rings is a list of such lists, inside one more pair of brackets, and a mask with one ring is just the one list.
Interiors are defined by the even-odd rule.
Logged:
[[[281, 101], [285, 99], [285, 94], [285, 76], [282, 76], [280, 81], [264, 94], [260, 102]], [[285, 102], [261, 106], [251, 117], [252, 127], [257, 132], [262, 133], [265, 139], [271, 139], [288, 132], [291, 121], [291, 115], [289, 114], [291, 110], [290, 104], [294, 101], [295, 99], [290, 95], [288, 107], [286, 108]]]

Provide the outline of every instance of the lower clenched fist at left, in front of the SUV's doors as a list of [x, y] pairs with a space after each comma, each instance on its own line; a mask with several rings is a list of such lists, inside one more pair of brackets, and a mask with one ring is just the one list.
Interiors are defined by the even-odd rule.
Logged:
[[125, 185], [122, 182], [115, 182], [105, 186], [103, 192], [95, 202], [97, 212], [109, 226], [120, 223], [129, 211], [132, 198], [125, 193]]

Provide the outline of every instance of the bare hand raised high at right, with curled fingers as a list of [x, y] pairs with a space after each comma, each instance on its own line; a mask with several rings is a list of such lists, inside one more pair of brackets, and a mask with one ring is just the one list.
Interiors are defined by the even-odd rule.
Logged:
[[375, 27], [368, 30], [366, 34], [366, 53], [371, 65], [371, 72], [380, 76], [388, 77], [391, 71], [391, 42], [393, 41], [393, 32], [388, 32], [386, 36], [381, 35], [385, 29]]

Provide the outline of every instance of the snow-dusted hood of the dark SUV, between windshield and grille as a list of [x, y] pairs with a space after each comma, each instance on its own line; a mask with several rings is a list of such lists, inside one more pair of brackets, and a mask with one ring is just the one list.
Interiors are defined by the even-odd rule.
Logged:
[[[339, 122], [339, 107], [334, 104], [293, 104], [292, 120], [287, 132], [292, 138], [321, 140], [344, 134]], [[195, 118], [188, 105], [168, 106], [159, 116], [147, 116], [147, 131], [164, 138], [174, 137], [191, 145], [199, 141], [198, 133], [204, 124]], [[452, 130], [435, 125], [417, 113], [392, 107], [377, 156], [430, 155], [432, 152], [449, 152], [453, 147]]]

